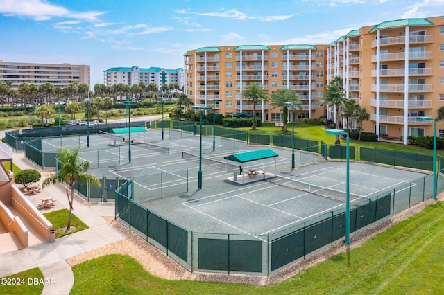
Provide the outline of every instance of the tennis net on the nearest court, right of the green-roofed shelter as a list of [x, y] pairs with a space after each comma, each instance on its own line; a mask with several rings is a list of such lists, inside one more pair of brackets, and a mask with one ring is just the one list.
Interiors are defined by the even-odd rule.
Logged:
[[[296, 179], [292, 179], [289, 177], [282, 177], [279, 175], [276, 175], [276, 177], [274, 178], [265, 179], [265, 180], [273, 184], [278, 184], [280, 186], [287, 186], [288, 188], [294, 188], [296, 190], [300, 190], [305, 193], [310, 193], [321, 197], [327, 197], [341, 202], [345, 202], [345, 197], [347, 195], [345, 192], [341, 190], [336, 190], [334, 188], [326, 188], [323, 186], [316, 186], [315, 184], [307, 184], [305, 182], [298, 181]], [[349, 194], [349, 195], [350, 195], [350, 202], [358, 199], [370, 199], [370, 197], [366, 197], [363, 195], [355, 195], [355, 194]]]

